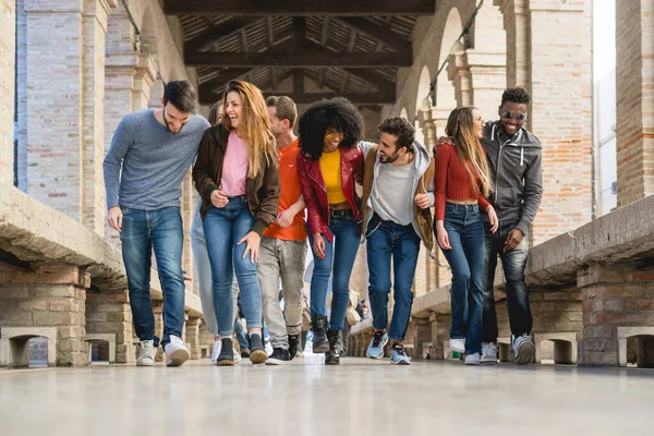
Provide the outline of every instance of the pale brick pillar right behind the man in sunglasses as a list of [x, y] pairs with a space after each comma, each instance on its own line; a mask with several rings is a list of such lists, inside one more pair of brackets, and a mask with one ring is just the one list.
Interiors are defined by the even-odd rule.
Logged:
[[[530, 92], [526, 128], [543, 144], [544, 194], [531, 234], [535, 245], [591, 219], [591, 2], [495, 4], [507, 31], [507, 83]], [[553, 119], [559, 121], [553, 124]]]

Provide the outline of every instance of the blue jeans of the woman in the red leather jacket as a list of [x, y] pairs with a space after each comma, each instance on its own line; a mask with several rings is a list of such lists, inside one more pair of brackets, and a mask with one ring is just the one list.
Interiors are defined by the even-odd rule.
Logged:
[[[361, 226], [352, 218], [352, 213], [344, 215], [339, 218], [331, 216], [329, 230], [334, 234], [334, 242], [322, 237], [325, 239], [325, 258], [320, 259], [314, 254], [314, 270], [311, 278], [311, 314], [327, 316], [327, 288], [329, 276], [334, 272], [330, 330], [343, 328], [350, 301], [350, 276], [361, 239]], [[308, 237], [308, 243], [313, 247], [312, 234]]]

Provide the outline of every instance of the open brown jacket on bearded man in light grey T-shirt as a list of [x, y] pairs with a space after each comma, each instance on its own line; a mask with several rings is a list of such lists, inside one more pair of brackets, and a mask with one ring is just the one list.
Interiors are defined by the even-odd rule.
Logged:
[[[373, 181], [375, 178], [375, 164], [377, 162], [377, 146], [373, 146], [365, 157], [365, 164], [363, 169], [363, 196], [361, 197], [361, 211], [363, 220], [361, 221], [361, 234], [366, 233], [366, 226], [370, 221], [366, 216], [368, 213], [367, 201], [373, 190]], [[425, 172], [420, 177], [417, 186], [413, 195], [427, 194], [428, 186], [434, 181], [434, 158], [429, 158], [429, 165], [426, 167]], [[434, 233], [432, 231], [432, 210], [427, 207], [421, 209], [413, 204], [413, 216], [415, 217], [415, 226], [420, 229], [422, 234], [419, 234], [425, 246], [429, 250], [429, 254], [434, 249]]]

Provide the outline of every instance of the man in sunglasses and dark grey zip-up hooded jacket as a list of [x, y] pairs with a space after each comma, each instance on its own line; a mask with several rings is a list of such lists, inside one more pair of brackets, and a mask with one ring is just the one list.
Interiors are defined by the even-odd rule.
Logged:
[[495, 268], [499, 256], [507, 282], [507, 305], [511, 343], [518, 364], [534, 361], [536, 348], [531, 337], [532, 314], [524, 269], [529, 253], [529, 230], [543, 196], [541, 141], [523, 128], [531, 97], [523, 88], [506, 89], [498, 109], [499, 121], [487, 122], [482, 144], [493, 192], [488, 201], [495, 207], [499, 229], [491, 233], [484, 216], [484, 331], [482, 363], [497, 363], [497, 315], [495, 312]]

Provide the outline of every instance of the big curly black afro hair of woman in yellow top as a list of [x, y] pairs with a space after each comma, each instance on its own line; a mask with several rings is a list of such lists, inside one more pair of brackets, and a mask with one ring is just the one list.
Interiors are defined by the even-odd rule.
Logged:
[[300, 117], [298, 124], [300, 149], [312, 160], [323, 156], [325, 132], [329, 128], [348, 135], [339, 145], [342, 148], [352, 148], [363, 138], [363, 117], [350, 100], [335, 97], [316, 101]]

